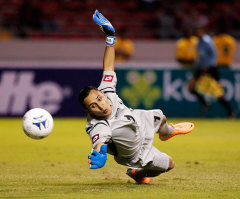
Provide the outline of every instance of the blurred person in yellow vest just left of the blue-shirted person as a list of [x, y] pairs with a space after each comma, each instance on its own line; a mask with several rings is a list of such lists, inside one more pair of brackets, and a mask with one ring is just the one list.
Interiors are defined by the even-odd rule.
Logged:
[[176, 60], [183, 68], [192, 67], [197, 56], [197, 37], [193, 35], [192, 28], [185, 28], [184, 35], [176, 43]]

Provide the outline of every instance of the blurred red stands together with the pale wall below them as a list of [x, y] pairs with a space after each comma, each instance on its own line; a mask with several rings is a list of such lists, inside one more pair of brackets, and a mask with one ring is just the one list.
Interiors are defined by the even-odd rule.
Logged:
[[[186, 26], [207, 25], [214, 35], [221, 25], [240, 38], [240, 2], [234, 0], [0, 0], [1, 62], [101, 63], [104, 35], [91, 20], [95, 9], [117, 30], [129, 27], [136, 52], [127, 66], [179, 66], [175, 43]], [[239, 48], [237, 42], [237, 68]]]

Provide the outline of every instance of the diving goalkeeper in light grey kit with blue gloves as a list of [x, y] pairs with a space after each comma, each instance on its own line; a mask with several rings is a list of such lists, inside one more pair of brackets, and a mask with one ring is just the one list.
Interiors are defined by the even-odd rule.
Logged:
[[194, 124], [169, 125], [160, 109], [140, 110], [124, 105], [116, 94], [115, 29], [98, 10], [93, 20], [106, 35], [106, 47], [99, 87], [83, 88], [78, 99], [88, 113], [86, 132], [93, 148], [88, 156], [90, 169], [103, 167], [107, 156], [113, 155], [118, 164], [127, 166], [127, 175], [137, 183], [150, 183], [151, 177], [174, 168], [173, 159], [153, 146], [155, 133], [161, 141], [166, 141], [175, 135], [190, 133]]

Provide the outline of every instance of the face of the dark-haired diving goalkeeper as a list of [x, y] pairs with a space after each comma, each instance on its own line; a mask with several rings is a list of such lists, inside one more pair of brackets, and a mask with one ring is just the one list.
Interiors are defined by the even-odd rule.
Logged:
[[89, 95], [84, 99], [84, 104], [90, 115], [97, 118], [106, 118], [112, 113], [107, 96], [97, 90], [91, 90]]

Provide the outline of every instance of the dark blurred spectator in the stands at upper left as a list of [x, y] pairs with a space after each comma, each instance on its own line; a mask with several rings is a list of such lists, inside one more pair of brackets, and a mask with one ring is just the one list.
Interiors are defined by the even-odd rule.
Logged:
[[38, 0], [25, 0], [19, 9], [18, 35], [28, 37], [29, 30], [42, 29], [42, 10]]

